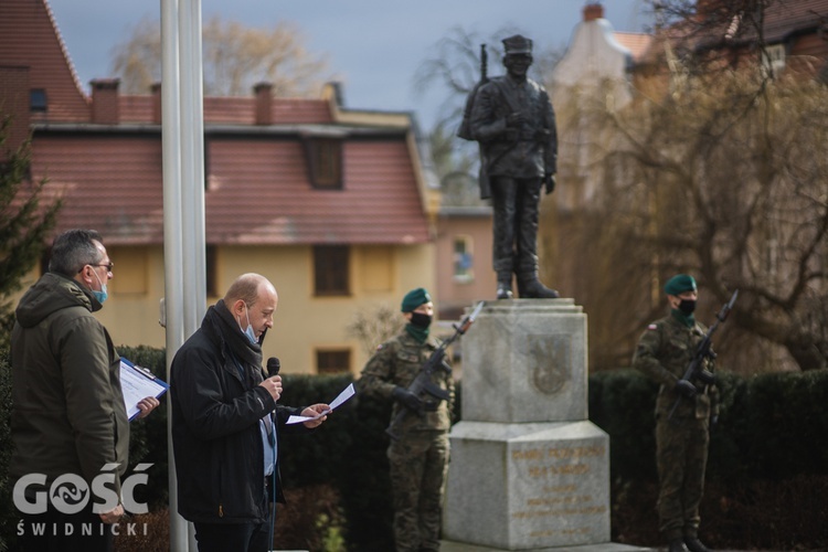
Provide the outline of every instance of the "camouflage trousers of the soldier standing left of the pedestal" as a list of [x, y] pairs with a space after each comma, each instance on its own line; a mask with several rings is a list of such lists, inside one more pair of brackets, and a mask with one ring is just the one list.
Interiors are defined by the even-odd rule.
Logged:
[[411, 432], [391, 443], [391, 490], [396, 552], [439, 550], [448, 434]]

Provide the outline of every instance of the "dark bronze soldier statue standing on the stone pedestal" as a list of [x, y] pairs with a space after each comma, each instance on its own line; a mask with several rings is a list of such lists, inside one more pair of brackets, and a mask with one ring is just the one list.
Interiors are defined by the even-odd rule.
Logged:
[[497, 298], [512, 298], [512, 274], [521, 298], [555, 298], [538, 279], [538, 204], [543, 184], [554, 190], [558, 170], [555, 115], [543, 86], [527, 77], [532, 41], [518, 34], [502, 42], [507, 74], [473, 92], [459, 136], [480, 144], [480, 195], [495, 209]]

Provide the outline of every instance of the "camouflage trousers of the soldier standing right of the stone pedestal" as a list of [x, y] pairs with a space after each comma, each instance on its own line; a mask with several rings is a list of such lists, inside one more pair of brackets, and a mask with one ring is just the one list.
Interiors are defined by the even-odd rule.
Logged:
[[658, 521], [667, 540], [696, 537], [699, 531], [709, 442], [708, 418], [669, 421], [660, 415], [656, 423]]

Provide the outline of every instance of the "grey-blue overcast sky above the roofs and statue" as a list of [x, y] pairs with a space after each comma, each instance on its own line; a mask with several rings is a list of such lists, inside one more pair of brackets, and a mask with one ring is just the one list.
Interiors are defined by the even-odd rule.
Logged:
[[[49, 0], [81, 83], [114, 76], [113, 49], [141, 19], [160, 19], [161, 1]], [[594, 0], [593, 0], [594, 1]], [[513, 28], [537, 50], [563, 49], [582, 19], [585, 0], [202, 0], [202, 20], [213, 15], [250, 26], [290, 21], [306, 47], [328, 55], [343, 84], [347, 107], [415, 112], [424, 127], [442, 98], [417, 95], [414, 74], [455, 28], [488, 38]], [[649, 24], [646, 0], [604, 0], [616, 31]], [[489, 61], [491, 75], [502, 74]]]

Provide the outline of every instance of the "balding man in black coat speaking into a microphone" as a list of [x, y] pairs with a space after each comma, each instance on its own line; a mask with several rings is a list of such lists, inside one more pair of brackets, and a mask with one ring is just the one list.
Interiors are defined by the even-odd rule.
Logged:
[[[172, 360], [172, 444], [178, 510], [195, 526], [200, 552], [259, 552], [268, 543], [268, 505], [284, 502], [278, 432], [291, 415], [315, 417], [327, 404], [277, 405], [282, 376], [262, 370], [262, 341], [278, 295], [244, 274], [210, 307]], [[316, 427], [326, 416], [304, 423]], [[275, 493], [275, 496], [274, 496]]]

